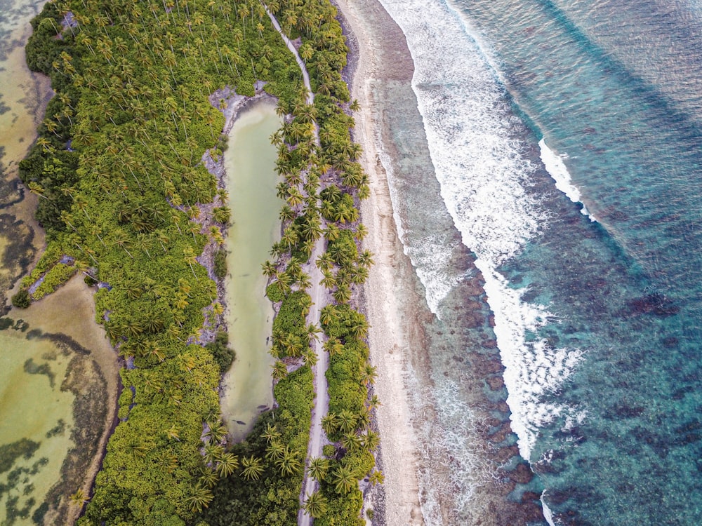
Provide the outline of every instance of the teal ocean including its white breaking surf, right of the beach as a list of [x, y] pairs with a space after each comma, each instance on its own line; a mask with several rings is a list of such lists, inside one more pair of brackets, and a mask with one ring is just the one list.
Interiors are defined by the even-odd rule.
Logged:
[[[439, 319], [470, 277], [451, 228], [472, 253], [548, 522], [702, 524], [702, 5], [380, 3], [440, 192], [403, 208], [427, 186], [390, 173], [399, 233]], [[407, 226], [431, 207], [444, 231]]]

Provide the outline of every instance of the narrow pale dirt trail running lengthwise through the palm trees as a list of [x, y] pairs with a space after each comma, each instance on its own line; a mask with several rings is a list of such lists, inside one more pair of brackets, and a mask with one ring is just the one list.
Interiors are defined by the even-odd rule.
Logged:
[[[305, 88], [307, 88], [307, 104], [314, 104], [314, 93], [312, 93], [312, 85], [310, 84], [310, 75], [307, 73], [307, 67], [305, 67], [305, 62], [300, 58], [298, 50], [293, 46], [288, 36], [283, 32], [275, 18], [273, 13], [264, 4], [266, 13], [273, 24], [273, 27], [282, 37], [285, 45], [295, 56], [295, 60], [300, 67], [300, 71], [303, 74], [303, 82], [305, 83]], [[314, 139], [317, 142], [317, 147], [319, 147], [319, 126], [314, 123]], [[326, 289], [320, 285], [322, 281], [322, 271], [319, 270], [317, 264], [317, 257], [324, 253], [324, 236], [320, 236], [317, 242], [314, 243], [314, 249], [312, 250], [312, 255], [307, 261], [303, 268], [307, 271], [310, 276], [310, 281], [312, 285], [310, 286], [310, 297], [312, 297], [312, 306], [310, 307], [310, 312], [307, 313], [307, 325], [314, 325], [320, 327], [319, 323], [319, 310], [322, 306], [329, 302], [329, 296], [326, 293]], [[317, 353], [317, 363], [312, 367], [312, 373], [314, 375], [314, 407], [312, 407], [312, 424], [310, 425], [310, 441], [307, 443], [307, 459], [305, 459], [305, 476], [303, 478], [302, 492], [300, 492], [300, 511], [298, 511], [298, 526], [310, 526], [312, 525], [312, 516], [309, 515], [303, 508], [302, 504], [307, 499], [307, 497], [317, 490], [318, 483], [314, 478], [307, 476], [307, 466], [310, 463], [310, 459], [314, 457], [322, 457], [322, 448], [325, 444], [329, 443], [326, 438], [326, 433], [322, 429], [322, 417], [329, 412], [329, 394], [326, 385], [326, 370], [329, 367], [329, 356], [322, 347], [322, 338], [319, 340], [312, 339], [312, 349]]]

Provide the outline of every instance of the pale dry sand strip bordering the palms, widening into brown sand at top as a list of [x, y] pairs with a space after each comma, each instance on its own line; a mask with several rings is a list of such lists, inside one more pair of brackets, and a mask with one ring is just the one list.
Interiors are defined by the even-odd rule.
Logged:
[[[409, 349], [417, 346], [417, 335], [411, 334], [405, 318], [408, 307], [404, 288], [412, 270], [397, 237], [388, 181], [380, 164], [383, 119], [373, 107], [373, 84], [378, 79], [409, 83], [413, 65], [404, 35], [377, 1], [335, 3], [358, 46], [352, 97], [362, 108], [355, 114], [355, 138], [364, 148], [362, 164], [371, 187], [371, 195], [362, 205], [362, 217], [369, 229], [364, 248], [375, 254], [376, 262], [366, 282], [366, 308], [371, 325], [371, 363], [378, 370], [374, 389], [383, 403], [376, 414], [385, 475], [384, 523], [423, 525], [417, 478], [420, 455], [404, 381]], [[383, 513], [382, 509], [376, 511]]]

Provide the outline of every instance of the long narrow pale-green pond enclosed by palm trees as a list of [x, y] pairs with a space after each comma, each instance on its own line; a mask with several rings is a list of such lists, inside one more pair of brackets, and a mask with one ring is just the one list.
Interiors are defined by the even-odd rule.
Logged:
[[[258, 102], [234, 123], [225, 153], [232, 224], [227, 233], [227, 325], [237, 356], [224, 378], [222, 412], [234, 440], [246, 436], [273, 402], [267, 338], [273, 309], [264, 296], [261, 264], [280, 235], [274, 171], [276, 149], [270, 135], [280, 127], [275, 107]], [[244, 422], [240, 424], [239, 422]]]

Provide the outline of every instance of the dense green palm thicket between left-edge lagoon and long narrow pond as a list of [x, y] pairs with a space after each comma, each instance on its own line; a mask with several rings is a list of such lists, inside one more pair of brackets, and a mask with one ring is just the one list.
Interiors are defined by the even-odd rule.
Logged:
[[[206, 237], [188, 220], [216, 193], [198, 164], [223, 126], [207, 97], [225, 84], [252, 93], [263, 78], [291, 100], [300, 75], [251, 60], [292, 62], [270, 24], [254, 32], [233, 6], [60, 5], [46, 4], [27, 46], [29, 66], [51, 76], [56, 96], [20, 166], [49, 241], [22, 287], [43, 276], [34, 297], [54, 290], [76, 269], [57, 264], [62, 255], [89, 264], [111, 285], [95, 296], [96, 318], [136, 367], [123, 374], [126, 421], [110, 440], [81, 525], [182, 525], [196, 500], [206, 505], [197, 491], [202, 424], [218, 415], [218, 370], [231, 360], [225, 346], [185, 343], [216, 295], [195, 260]], [[60, 10], [79, 25], [61, 30]], [[228, 220], [224, 207], [216, 216]], [[164, 430], [174, 425], [179, 439], [168, 440]]]

